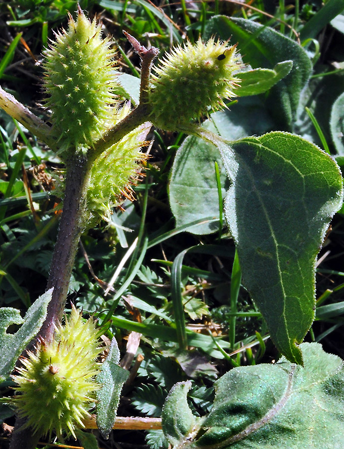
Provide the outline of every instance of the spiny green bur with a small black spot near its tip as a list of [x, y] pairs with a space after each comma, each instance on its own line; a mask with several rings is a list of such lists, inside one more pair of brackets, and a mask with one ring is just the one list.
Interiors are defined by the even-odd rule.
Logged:
[[158, 128], [183, 131], [207, 111], [223, 109], [224, 98], [235, 97], [243, 66], [236, 45], [210, 38], [194, 45], [187, 41], [167, 54], [152, 75], [149, 102], [151, 122]]

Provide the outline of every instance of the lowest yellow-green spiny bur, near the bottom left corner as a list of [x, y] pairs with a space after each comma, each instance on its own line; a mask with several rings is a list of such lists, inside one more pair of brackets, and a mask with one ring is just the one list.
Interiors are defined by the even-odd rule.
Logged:
[[92, 319], [84, 321], [81, 312], [72, 308], [65, 325], [58, 325], [51, 342], [41, 341], [12, 379], [20, 393], [13, 397], [19, 417], [38, 435], [55, 432], [75, 437], [75, 428], [90, 417], [89, 404], [101, 386], [96, 383], [97, 330]]

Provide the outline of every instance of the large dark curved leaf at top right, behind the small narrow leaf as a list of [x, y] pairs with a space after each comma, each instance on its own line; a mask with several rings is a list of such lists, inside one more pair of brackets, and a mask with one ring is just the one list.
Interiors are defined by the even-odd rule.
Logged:
[[231, 38], [234, 43], [238, 42], [244, 62], [253, 68], [274, 69], [280, 62], [293, 61], [290, 73], [270, 89], [266, 100], [278, 125], [291, 129], [300, 92], [312, 69], [306, 51], [297, 42], [274, 29], [242, 18], [214, 16], [205, 27], [207, 37], [213, 34], [223, 40]]

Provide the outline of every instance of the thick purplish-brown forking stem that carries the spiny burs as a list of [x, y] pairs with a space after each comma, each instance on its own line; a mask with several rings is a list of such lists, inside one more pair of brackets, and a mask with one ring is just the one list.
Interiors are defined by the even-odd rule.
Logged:
[[[128, 35], [130, 36], [130, 35]], [[158, 50], [154, 47], [146, 49], [136, 39], [130, 36], [131, 43], [142, 58], [141, 103], [124, 120], [112, 128], [102, 139], [95, 142], [87, 153], [75, 154], [66, 163], [65, 197], [63, 203], [60, 227], [52, 256], [47, 290], [54, 287], [52, 299], [48, 305], [47, 316], [36, 339], [49, 341], [53, 338], [54, 325], [63, 316], [63, 310], [68, 293], [69, 281], [74, 265], [81, 233], [87, 224], [87, 188], [92, 164], [100, 154], [111, 145], [119, 142], [129, 132], [145, 123], [150, 113], [148, 104], [149, 76], [153, 59]], [[27, 127], [37, 137], [55, 149], [50, 127], [32, 114], [14, 97], [8, 100], [8, 94], [0, 91], [0, 107]], [[1, 97], [2, 94], [2, 97]], [[11, 97], [11, 96], [10, 96]], [[1, 100], [2, 98], [2, 100]], [[8, 106], [8, 101], [10, 107]], [[10, 443], [10, 449], [34, 449], [40, 435], [32, 437], [30, 428], [23, 428], [25, 420], [18, 419]]]

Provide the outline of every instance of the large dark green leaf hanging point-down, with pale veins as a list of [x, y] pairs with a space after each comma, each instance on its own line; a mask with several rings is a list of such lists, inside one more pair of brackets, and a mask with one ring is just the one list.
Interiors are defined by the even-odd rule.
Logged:
[[343, 200], [339, 167], [315, 145], [282, 132], [242, 139], [222, 157], [233, 181], [225, 216], [243, 284], [277, 348], [302, 364], [297, 344], [314, 320], [316, 256]]

